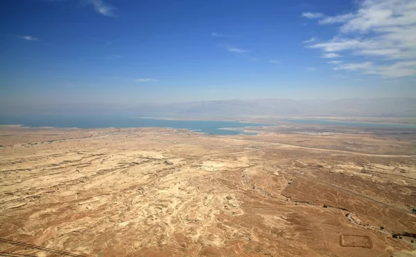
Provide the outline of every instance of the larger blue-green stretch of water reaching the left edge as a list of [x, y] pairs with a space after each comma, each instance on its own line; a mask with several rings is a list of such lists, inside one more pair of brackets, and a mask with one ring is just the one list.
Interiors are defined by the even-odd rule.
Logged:
[[171, 127], [208, 134], [255, 134], [241, 130], [221, 130], [223, 127], [249, 127], [264, 124], [239, 123], [237, 121], [170, 121], [128, 116], [0, 116], [0, 125], [23, 125], [26, 127]]

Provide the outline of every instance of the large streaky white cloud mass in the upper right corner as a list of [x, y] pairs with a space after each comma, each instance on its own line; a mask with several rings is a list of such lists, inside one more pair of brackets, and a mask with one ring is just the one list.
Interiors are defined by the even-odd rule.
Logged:
[[319, 14], [302, 16], [318, 19], [319, 24], [340, 24], [339, 33], [326, 42], [310, 42], [306, 47], [326, 54], [343, 52], [351, 57], [372, 58], [372, 62], [343, 64], [338, 69], [385, 77], [415, 76], [416, 68], [412, 67], [416, 62], [415, 0], [363, 0], [355, 12]]

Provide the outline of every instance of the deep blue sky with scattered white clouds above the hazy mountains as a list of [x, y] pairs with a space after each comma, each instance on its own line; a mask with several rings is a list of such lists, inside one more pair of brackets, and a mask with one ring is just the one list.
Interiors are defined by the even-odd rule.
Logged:
[[414, 0], [3, 0], [3, 105], [416, 98]]

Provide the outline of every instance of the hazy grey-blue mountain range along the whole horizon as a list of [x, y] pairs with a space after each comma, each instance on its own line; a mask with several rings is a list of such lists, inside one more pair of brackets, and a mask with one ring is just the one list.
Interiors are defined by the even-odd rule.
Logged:
[[37, 105], [1, 107], [1, 114], [128, 114], [134, 116], [374, 116], [416, 117], [416, 98], [340, 100], [211, 100], [164, 105]]

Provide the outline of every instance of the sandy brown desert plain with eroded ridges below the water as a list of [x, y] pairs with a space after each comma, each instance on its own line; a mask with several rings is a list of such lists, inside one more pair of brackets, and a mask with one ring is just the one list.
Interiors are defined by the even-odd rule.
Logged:
[[1, 126], [2, 256], [416, 256], [416, 131], [248, 131]]

